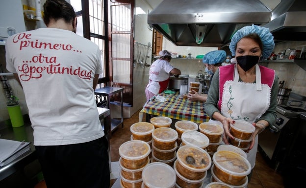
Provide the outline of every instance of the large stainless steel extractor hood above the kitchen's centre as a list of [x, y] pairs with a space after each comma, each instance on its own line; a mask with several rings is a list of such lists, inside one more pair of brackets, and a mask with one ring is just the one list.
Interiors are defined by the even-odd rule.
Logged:
[[270, 18], [260, 0], [163, 0], [148, 24], [178, 46], [222, 47], [238, 29]]

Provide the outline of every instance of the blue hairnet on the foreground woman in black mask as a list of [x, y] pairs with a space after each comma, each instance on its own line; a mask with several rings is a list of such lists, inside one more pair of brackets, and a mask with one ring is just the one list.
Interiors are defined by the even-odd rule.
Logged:
[[240, 41], [246, 35], [256, 33], [262, 42], [262, 57], [261, 59], [266, 59], [272, 53], [275, 43], [273, 41], [273, 35], [270, 33], [269, 29], [266, 27], [261, 27], [258, 25], [245, 26], [239, 29], [231, 38], [231, 42], [229, 44], [229, 50], [232, 56], [235, 56], [236, 45], [237, 42]]

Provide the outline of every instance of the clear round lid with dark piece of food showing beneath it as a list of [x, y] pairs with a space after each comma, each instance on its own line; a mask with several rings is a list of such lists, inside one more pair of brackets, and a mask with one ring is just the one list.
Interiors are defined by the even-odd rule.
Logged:
[[196, 146], [180, 146], [177, 151], [179, 164], [194, 172], [204, 172], [211, 166], [207, 151]]

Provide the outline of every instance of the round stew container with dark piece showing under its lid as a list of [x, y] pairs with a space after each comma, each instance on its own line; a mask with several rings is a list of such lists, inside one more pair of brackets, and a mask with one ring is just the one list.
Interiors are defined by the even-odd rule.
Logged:
[[196, 146], [181, 146], [177, 152], [176, 168], [187, 179], [200, 180], [211, 166], [209, 154]]

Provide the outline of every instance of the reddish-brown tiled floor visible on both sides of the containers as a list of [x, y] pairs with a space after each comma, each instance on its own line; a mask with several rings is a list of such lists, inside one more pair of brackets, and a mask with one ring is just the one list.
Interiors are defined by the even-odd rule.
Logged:
[[[117, 162], [120, 158], [119, 147], [121, 144], [130, 140], [131, 132], [130, 126], [139, 122], [139, 111], [137, 111], [131, 118], [124, 119], [124, 127], [118, 127], [112, 133], [110, 139], [111, 161]], [[112, 163], [114, 169], [112, 173], [117, 174], [118, 165]], [[114, 176], [116, 176], [114, 174]], [[111, 180], [111, 186], [116, 181], [115, 177]], [[260, 152], [257, 152], [256, 165], [253, 170], [252, 179], [248, 184], [248, 188], [284, 188], [282, 176], [274, 169], [270, 168], [263, 159]]]

